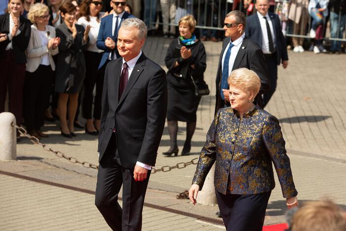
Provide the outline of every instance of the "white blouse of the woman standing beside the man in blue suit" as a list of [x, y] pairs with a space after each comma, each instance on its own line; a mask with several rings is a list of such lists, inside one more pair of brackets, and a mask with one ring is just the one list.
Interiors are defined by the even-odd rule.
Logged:
[[98, 17], [93, 17], [90, 16], [90, 21], [88, 22], [86, 20], [86, 18], [80, 17], [77, 21], [77, 24], [82, 25], [84, 27], [84, 29], [90, 25], [90, 32], [89, 32], [89, 47], [88, 47], [88, 51], [92, 51], [92, 52], [96, 52], [96, 53], [102, 53], [104, 52], [103, 50], [97, 48], [96, 46], [96, 41], [97, 41], [97, 37], [99, 35], [99, 30], [100, 30], [100, 24], [101, 24], [101, 19], [98, 21]]

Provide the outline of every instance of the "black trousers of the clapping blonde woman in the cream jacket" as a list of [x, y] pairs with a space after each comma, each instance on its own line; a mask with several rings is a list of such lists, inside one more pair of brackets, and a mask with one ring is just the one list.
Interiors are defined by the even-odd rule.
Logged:
[[49, 94], [53, 83], [51, 66], [39, 65], [35, 72], [26, 72], [24, 81], [24, 121], [27, 130], [40, 130], [44, 123]]

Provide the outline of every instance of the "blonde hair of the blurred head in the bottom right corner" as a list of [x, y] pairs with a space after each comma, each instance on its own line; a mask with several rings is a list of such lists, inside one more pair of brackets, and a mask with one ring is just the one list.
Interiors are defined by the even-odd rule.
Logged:
[[292, 231], [346, 231], [344, 211], [331, 200], [311, 201], [294, 213]]

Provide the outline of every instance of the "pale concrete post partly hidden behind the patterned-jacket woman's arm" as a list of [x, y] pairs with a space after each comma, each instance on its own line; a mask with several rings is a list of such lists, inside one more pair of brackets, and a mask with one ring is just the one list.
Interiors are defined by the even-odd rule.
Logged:
[[211, 167], [201, 192], [198, 192], [197, 203], [203, 205], [217, 204], [214, 187], [215, 164]]

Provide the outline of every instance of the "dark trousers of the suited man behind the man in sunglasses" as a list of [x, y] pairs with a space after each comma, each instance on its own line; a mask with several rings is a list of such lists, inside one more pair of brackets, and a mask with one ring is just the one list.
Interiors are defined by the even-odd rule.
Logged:
[[270, 90], [263, 94], [263, 108], [268, 104], [277, 89], [277, 54], [264, 54], [269, 72]]

